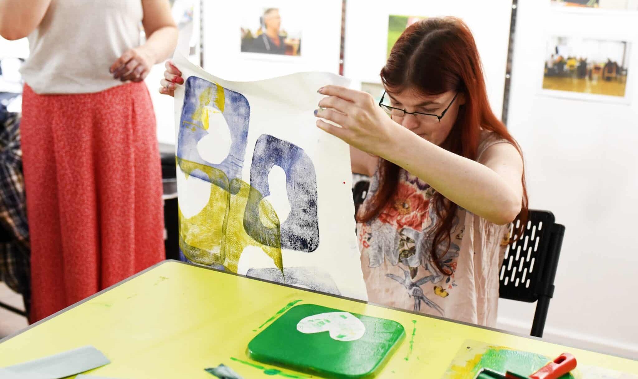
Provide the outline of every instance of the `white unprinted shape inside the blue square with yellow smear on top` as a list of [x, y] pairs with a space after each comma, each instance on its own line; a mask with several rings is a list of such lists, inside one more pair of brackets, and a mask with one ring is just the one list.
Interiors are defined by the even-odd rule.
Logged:
[[[208, 120], [208, 134], [197, 143], [197, 152], [204, 161], [220, 164], [230, 152], [230, 129], [223, 114], [207, 106], [203, 110]], [[204, 125], [205, 126], [205, 125]]]

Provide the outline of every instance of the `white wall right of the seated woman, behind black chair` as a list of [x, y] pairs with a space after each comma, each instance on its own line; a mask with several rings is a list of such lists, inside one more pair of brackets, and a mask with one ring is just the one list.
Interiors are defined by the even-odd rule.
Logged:
[[[519, 0], [508, 127], [523, 147], [532, 208], [565, 240], [545, 338], [638, 359], [638, 62], [630, 104], [543, 96], [551, 35], [638, 42], [638, 12], [556, 10]], [[529, 333], [534, 304], [500, 301], [498, 327]]]

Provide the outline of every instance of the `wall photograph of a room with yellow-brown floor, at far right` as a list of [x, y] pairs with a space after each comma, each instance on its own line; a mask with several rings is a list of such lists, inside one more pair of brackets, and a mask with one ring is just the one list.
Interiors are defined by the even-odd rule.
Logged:
[[628, 103], [628, 41], [551, 36], [542, 91], [550, 96]]

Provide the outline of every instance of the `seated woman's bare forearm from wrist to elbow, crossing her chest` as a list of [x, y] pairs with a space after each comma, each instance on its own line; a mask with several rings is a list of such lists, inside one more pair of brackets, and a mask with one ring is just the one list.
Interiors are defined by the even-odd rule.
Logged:
[[519, 213], [522, 193], [484, 164], [449, 152], [403, 128], [389, 143], [385, 159], [475, 215], [506, 224]]

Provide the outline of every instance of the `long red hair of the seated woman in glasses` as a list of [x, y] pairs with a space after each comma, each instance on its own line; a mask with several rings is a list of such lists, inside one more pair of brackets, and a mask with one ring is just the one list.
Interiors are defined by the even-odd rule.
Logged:
[[[426, 96], [448, 91], [464, 94], [465, 103], [459, 107], [456, 122], [441, 147], [475, 161], [483, 129], [507, 139], [523, 157], [521, 148], [489, 106], [479, 51], [470, 28], [459, 18], [427, 18], [410, 25], [392, 48], [381, 78], [391, 93], [409, 88]], [[377, 217], [394, 195], [398, 181], [399, 167], [380, 159], [378, 190], [367, 206], [360, 208], [357, 221], [368, 222]], [[528, 214], [524, 174], [521, 182], [523, 222], [518, 232], [526, 224]], [[450, 247], [458, 206], [438, 192], [434, 194], [433, 204], [437, 218], [431, 231], [434, 234], [431, 254], [436, 268], [450, 275], [440, 259]], [[447, 247], [437, 255], [437, 247], [444, 242]]]

